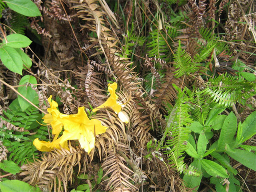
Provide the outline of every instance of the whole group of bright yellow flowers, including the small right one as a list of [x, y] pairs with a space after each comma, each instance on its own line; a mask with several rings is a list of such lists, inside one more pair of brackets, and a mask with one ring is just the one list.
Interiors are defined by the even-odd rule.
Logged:
[[[93, 109], [93, 112], [98, 111], [99, 108], [110, 107], [118, 114], [122, 122], [128, 123], [128, 117], [122, 112], [122, 103], [116, 101], [118, 99], [116, 88], [116, 83], [108, 84], [108, 91], [111, 96], [105, 103]], [[90, 153], [94, 148], [95, 135], [105, 133], [108, 128], [103, 126], [98, 119], [89, 119], [84, 107], [80, 107], [77, 114], [66, 115], [58, 111], [57, 102], [51, 100], [52, 96], [48, 99], [50, 104], [50, 108], [47, 109], [48, 114], [43, 119], [45, 123], [52, 125], [52, 134], [55, 137], [52, 142], [40, 141], [36, 138], [33, 142], [35, 147], [39, 151], [52, 151], [53, 148], [60, 148], [60, 146], [69, 149], [68, 140], [79, 140], [81, 148]], [[58, 138], [62, 128], [64, 128], [63, 134]]]

